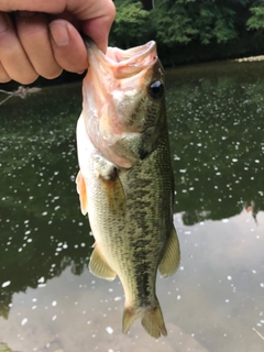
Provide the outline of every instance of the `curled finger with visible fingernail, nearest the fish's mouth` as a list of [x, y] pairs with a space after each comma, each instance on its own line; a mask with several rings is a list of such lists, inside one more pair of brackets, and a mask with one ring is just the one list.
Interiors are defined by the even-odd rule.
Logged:
[[54, 56], [64, 69], [81, 73], [88, 67], [87, 51], [81, 36], [73, 24], [65, 20], [50, 23]]

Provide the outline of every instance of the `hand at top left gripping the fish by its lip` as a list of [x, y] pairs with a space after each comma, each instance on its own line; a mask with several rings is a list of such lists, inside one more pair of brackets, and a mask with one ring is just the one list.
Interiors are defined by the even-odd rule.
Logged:
[[106, 52], [114, 15], [111, 0], [0, 0], [0, 84], [84, 72], [79, 31]]

